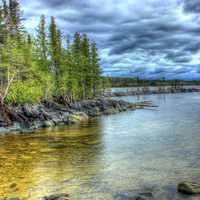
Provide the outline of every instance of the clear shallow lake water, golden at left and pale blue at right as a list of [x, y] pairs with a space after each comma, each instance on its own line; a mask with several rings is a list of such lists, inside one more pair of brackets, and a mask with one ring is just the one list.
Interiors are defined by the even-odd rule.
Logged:
[[200, 93], [122, 99], [159, 107], [0, 136], [0, 199], [66, 192], [112, 200], [149, 189], [157, 199], [192, 199], [175, 190], [185, 179], [200, 181]]

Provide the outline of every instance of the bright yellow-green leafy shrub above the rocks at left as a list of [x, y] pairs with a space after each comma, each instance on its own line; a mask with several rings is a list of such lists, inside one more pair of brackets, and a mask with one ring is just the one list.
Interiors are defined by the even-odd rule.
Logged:
[[16, 81], [10, 87], [5, 99], [7, 104], [40, 102], [43, 97], [42, 86], [37, 81]]

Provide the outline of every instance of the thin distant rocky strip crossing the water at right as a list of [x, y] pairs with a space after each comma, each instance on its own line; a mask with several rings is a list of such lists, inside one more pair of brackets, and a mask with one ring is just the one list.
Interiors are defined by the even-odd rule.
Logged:
[[135, 96], [135, 95], [153, 95], [153, 94], [174, 94], [174, 93], [193, 93], [200, 92], [198, 88], [158, 88], [155, 90], [150, 90], [148, 87], [137, 88], [127, 91], [116, 91], [107, 92], [107, 97], [123, 97], [123, 96]]

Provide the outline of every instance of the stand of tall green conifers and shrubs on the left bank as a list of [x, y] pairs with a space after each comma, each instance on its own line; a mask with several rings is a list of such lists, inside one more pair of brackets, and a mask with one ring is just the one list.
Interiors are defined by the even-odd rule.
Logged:
[[[44, 15], [30, 35], [17, 0], [0, 7], [0, 102], [73, 102], [100, 94], [105, 86], [95, 42], [86, 34], [65, 37], [56, 19]], [[71, 33], [70, 33], [71, 34]], [[73, 34], [73, 33], [72, 33]]]

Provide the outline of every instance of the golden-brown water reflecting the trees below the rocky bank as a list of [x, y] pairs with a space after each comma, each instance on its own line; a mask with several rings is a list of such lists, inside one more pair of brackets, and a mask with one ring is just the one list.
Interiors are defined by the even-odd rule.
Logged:
[[85, 184], [103, 169], [101, 138], [96, 121], [56, 132], [1, 137], [0, 197], [39, 199], [58, 191], [89, 189]]

